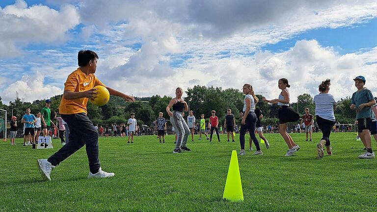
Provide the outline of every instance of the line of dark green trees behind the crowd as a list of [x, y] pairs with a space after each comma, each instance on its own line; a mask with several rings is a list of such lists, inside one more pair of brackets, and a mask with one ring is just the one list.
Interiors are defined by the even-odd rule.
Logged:
[[[211, 110], [216, 111], [216, 115], [219, 118], [220, 125], [224, 122], [226, 110], [232, 109], [232, 113], [236, 117], [236, 124], [240, 124], [238, 114], [243, 108], [244, 95], [237, 89], [221, 87], [207, 87], [195, 85], [192, 88], [188, 88], [186, 95], [184, 95], [185, 101], [189, 104], [189, 109], [193, 111], [196, 119], [200, 119], [200, 115], [204, 114], [207, 119], [211, 116]], [[262, 101], [263, 96], [257, 94], [259, 102], [257, 107], [263, 112], [264, 119], [262, 119], [262, 125], [276, 125], [278, 123], [278, 106], [270, 105]], [[51, 114], [58, 112], [60, 100], [62, 95], [54, 96], [51, 98], [52, 104], [50, 106]], [[105, 106], [95, 106], [88, 101], [87, 115], [93, 124], [99, 126], [110, 125], [111, 123], [127, 123], [130, 118], [130, 113], [135, 113], [138, 125], [150, 126], [159, 116], [159, 112], [163, 112], [163, 116], [166, 120], [169, 117], [165, 111], [166, 106], [173, 97], [154, 95], [152, 97], [135, 97], [136, 102], [127, 103], [122, 98], [111, 96], [110, 101]], [[9, 102], [8, 105], [4, 105], [1, 102], [0, 108], [8, 111], [7, 120], [11, 119], [11, 111], [13, 109], [13, 115], [18, 117], [18, 121], [21, 121], [21, 117], [25, 114], [27, 108], [31, 109], [31, 113], [36, 114], [45, 106], [44, 100], [35, 100], [32, 103], [21, 102], [20, 99], [16, 99], [13, 102]], [[308, 107], [310, 113], [315, 116], [315, 106], [313, 104], [313, 97], [310, 94], [301, 94], [297, 97], [296, 103], [291, 103], [293, 110], [298, 111], [300, 115], [304, 114], [304, 109]], [[188, 114], [186, 113], [185, 116]], [[341, 99], [338, 101], [335, 117], [341, 124], [351, 124], [355, 120], [355, 111], [350, 109], [350, 97]], [[168, 122], [169, 123], [169, 122]], [[19, 124], [18, 126], [22, 126]]]

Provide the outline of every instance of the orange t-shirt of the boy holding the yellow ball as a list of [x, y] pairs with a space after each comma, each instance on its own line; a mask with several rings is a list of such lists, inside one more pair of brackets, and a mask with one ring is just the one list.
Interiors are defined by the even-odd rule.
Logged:
[[[78, 68], [76, 71], [68, 75], [67, 81], [64, 83], [64, 90], [81, 92], [92, 89], [97, 85], [105, 86], [99, 79], [94, 76], [94, 74], [86, 75], [81, 71], [81, 68]], [[60, 114], [76, 114], [76, 113], [87, 113], [86, 104], [88, 98], [80, 98], [67, 100], [61, 98], [59, 113]]]

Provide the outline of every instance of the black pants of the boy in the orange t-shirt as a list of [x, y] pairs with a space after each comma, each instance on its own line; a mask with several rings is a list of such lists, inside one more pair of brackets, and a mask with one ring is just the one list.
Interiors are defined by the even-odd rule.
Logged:
[[53, 166], [67, 159], [76, 151], [86, 146], [86, 155], [89, 161], [89, 170], [92, 174], [98, 172], [100, 160], [98, 158], [98, 132], [85, 113], [64, 115], [61, 118], [69, 127], [69, 143], [60, 148], [48, 161]]

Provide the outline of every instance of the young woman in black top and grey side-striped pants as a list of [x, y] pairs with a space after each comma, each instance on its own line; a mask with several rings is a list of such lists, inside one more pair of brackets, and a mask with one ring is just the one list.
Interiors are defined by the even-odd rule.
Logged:
[[[177, 131], [177, 138], [173, 153], [181, 153], [181, 150], [191, 151], [186, 146], [190, 129], [188, 129], [183, 117], [183, 111], [188, 111], [188, 105], [185, 100], [182, 99], [182, 94], [182, 88], [178, 87], [175, 89], [175, 98], [171, 99], [169, 105], [166, 106], [166, 112], [170, 116], [170, 122]], [[173, 108], [173, 111], [170, 111], [171, 107]]]

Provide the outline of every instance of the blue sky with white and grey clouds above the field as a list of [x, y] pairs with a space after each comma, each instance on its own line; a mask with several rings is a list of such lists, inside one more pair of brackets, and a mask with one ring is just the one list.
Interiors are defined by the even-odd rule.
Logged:
[[287, 78], [295, 102], [329, 78], [340, 99], [358, 75], [377, 96], [376, 0], [1, 0], [0, 38], [5, 104], [61, 94], [81, 49], [139, 97], [251, 83], [272, 99]]

